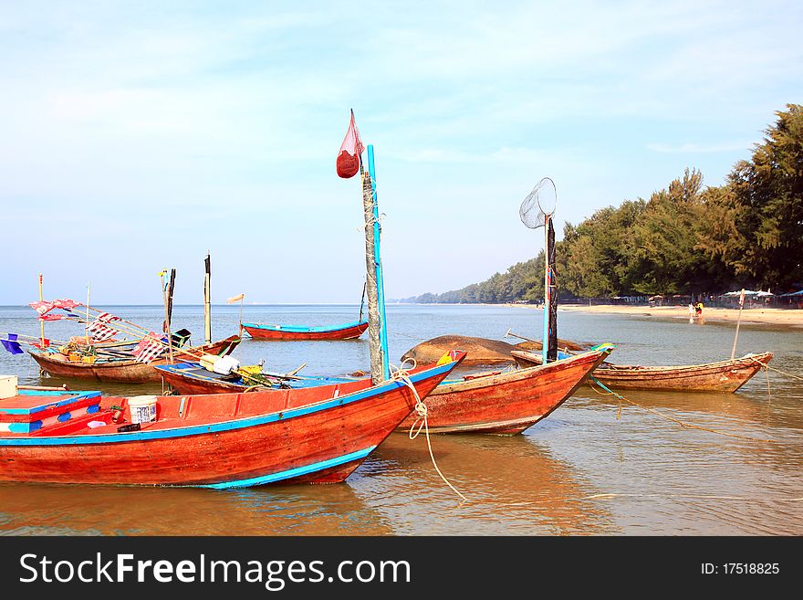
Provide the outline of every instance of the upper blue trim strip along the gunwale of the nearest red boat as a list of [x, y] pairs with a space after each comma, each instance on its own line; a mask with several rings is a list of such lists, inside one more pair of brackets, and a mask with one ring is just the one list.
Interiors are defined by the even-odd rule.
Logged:
[[[454, 363], [446, 363], [427, 369], [420, 373], [410, 375], [413, 383], [436, 377], [439, 374], [448, 373], [454, 368]], [[94, 436], [53, 436], [53, 437], [0, 437], [0, 447], [4, 446], [78, 446], [83, 444], [117, 444], [130, 442], [132, 440], [147, 441], [153, 439], [172, 439], [175, 437], [203, 436], [207, 434], [221, 433], [224, 431], [235, 431], [247, 427], [275, 423], [276, 421], [296, 418], [298, 416], [311, 415], [322, 410], [334, 408], [337, 405], [347, 405], [352, 402], [365, 400], [375, 395], [381, 395], [393, 389], [403, 387], [401, 381], [385, 381], [379, 385], [361, 390], [353, 394], [342, 395], [331, 398], [315, 405], [302, 406], [286, 411], [271, 413], [269, 415], [250, 416], [245, 419], [235, 421], [223, 421], [220, 423], [210, 423], [209, 425], [172, 427], [170, 429], [156, 429], [144, 431], [132, 431], [128, 433], [97, 434]]]

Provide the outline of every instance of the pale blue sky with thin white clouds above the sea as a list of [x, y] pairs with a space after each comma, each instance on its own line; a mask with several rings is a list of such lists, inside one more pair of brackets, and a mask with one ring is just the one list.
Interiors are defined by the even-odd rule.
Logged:
[[359, 302], [354, 108], [389, 298], [532, 258], [558, 225], [686, 167], [718, 185], [803, 101], [795, 2], [4, 2], [0, 304]]

